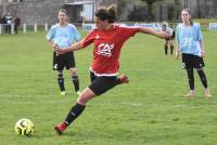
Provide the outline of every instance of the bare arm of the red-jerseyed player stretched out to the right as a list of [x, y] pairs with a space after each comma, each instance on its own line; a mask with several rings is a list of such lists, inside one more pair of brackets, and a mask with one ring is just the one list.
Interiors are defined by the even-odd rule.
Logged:
[[153, 36], [156, 36], [162, 39], [170, 37], [170, 35], [168, 32], [158, 31], [153, 28], [139, 28], [139, 32], [153, 35]]

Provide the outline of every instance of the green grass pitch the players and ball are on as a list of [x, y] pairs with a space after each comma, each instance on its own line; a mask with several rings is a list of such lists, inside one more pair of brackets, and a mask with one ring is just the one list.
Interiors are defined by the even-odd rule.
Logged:
[[[165, 56], [163, 41], [137, 35], [123, 48], [120, 74], [130, 83], [91, 101], [63, 136], [53, 127], [75, 103], [69, 72], [68, 94], [60, 96], [52, 51], [44, 32], [0, 36], [0, 145], [214, 145], [217, 143], [217, 34], [204, 31], [205, 71], [213, 98], [205, 98], [195, 74], [196, 97], [188, 91], [181, 62]], [[81, 88], [89, 80], [92, 48], [76, 52]], [[31, 137], [14, 133], [14, 124], [29, 118]]]

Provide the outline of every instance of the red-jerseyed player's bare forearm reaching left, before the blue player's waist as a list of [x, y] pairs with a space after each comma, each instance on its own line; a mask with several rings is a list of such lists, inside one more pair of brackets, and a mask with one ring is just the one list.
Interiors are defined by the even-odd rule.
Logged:
[[80, 40], [80, 41], [72, 44], [67, 49], [58, 49], [58, 48], [55, 48], [55, 52], [58, 54], [65, 54], [65, 53], [68, 53], [68, 52], [81, 50], [81, 49], [84, 49], [84, 41], [85, 40]]

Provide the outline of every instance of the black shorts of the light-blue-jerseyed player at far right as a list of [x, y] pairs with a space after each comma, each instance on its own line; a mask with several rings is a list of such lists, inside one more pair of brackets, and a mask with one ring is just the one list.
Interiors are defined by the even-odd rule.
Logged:
[[202, 57], [192, 55], [192, 54], [182, 53], [182, 68], [183, 69], [202, 68], [204, 66], [205, 64]]

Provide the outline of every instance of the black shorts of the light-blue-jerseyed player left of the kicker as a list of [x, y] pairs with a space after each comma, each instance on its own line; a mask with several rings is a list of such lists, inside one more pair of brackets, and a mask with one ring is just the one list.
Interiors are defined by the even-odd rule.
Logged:
[[56, 53], [53, 52], [53, 70], [63, 70], [64, 67], [66, 67], [66, 69], [75, 67], [74, 53], [69, 52], [56, 56]]

